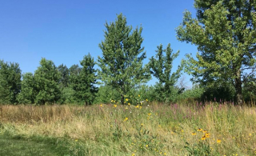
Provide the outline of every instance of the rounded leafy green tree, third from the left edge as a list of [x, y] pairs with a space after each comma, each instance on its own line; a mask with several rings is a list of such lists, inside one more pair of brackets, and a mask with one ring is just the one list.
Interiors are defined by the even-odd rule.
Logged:
[[60, 90], [58, 82], [60, 73], [54, 62], [42, 58], [40, 66], [34, 72], [34, 81], [36, 89], [35, 103], [46, 104], [58, 102]]

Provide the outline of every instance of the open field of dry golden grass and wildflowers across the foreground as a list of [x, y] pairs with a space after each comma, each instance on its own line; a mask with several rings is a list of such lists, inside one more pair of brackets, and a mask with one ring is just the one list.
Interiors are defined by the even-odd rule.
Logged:
[[255, 106], [0, 106], [0, 119], [0, 155], [256, 155]]

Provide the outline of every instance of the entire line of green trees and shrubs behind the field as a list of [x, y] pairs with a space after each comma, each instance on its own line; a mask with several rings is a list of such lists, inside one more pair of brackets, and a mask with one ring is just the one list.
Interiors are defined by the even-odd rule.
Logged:
[[[0, 61], [0, 103], [255, 100], [256, 1], [195, 0], [194, 7], [197, 17], [186, 11], [176, 32], [179, 41], [197, 46], [198, 54], [196, 58], [186, 54], [176, 71], [172, 66], [179, 51], [173, 53], [170, 44], [157, 46], [155, 57], [143, 65], [142, 27], [127, 26], [126, 17], [118, 14], [105, 24], [98, 60], [87, 54], [80, 65], [67, 68], [42, 58], [34, 74], [21, 74], [18, 63]], [[191, 90], [177, 84], [182, 72], [192, 75]], [[151, 75], [158, 82], [146, 86]]]

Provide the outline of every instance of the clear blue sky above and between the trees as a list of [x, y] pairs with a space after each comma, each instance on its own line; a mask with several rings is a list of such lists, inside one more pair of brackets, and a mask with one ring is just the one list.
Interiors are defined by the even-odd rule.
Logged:
[[[97, 60], [102, 56], [98, 44], [104, 40], [105, 23], [122, 13], [127, 25], [143, 28], [144, 63], [159, 44], [166, 48], [170, 43], [174, 52], [180, 50], [175, 71], [185, 54], [197, 52], [196, 46], [179, 42], [175, 32], [185, 10], [195, 18], [193, 5], [192, 0], [0, 0], [0, 59], [18, 62], [22, 74], [34, 73], [42, 58], [67, 67], [79, 64], [89, 53]], [[190, 76], [184, 78], [190, 86]], [[155, 82], [153, 78], [149, 84]]]

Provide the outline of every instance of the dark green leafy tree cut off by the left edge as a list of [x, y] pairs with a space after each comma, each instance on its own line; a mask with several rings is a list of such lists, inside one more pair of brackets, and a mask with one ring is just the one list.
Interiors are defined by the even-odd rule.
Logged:
[[22, 70], [18, 63], [0, 60], [0, 103], [14, 104], [21, 90]]

